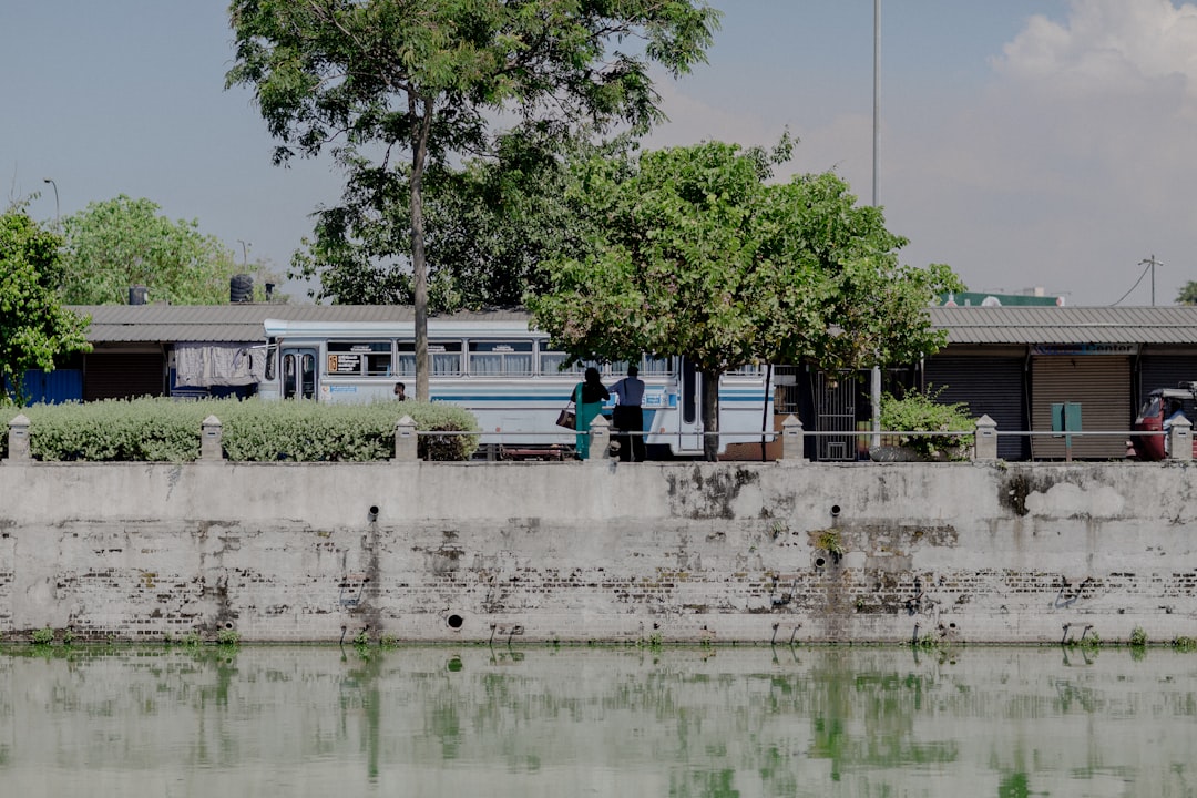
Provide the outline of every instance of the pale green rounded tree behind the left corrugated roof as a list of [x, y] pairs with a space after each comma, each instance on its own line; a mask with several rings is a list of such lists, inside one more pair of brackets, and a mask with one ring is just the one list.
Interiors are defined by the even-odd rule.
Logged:
[[229, 301], [229, 280], [243, 269], [233, 252], [195, 220], [172, 221], [146, 199], [91, 202], [62, 220], [67, 239], [61, 297], [68, 305], [128, 301], [129, 288], [175, 305]]

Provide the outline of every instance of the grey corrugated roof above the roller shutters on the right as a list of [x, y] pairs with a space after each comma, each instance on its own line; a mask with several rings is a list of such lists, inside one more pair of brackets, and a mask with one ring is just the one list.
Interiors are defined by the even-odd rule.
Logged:
[[948, 343], [1197, 343], [1197, 307], [932, 307]]

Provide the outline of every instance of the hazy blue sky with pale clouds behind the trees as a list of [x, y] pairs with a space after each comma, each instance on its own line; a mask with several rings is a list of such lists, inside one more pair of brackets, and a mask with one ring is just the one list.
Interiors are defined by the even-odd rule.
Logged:
[[[649, 146], [771, 145], [789, 129], [779, 178], [834, 170], [873, 202], [874, 1], [711, 5], [709, 63], [660, 77], [669, 122]], [[880, 5], [877, 201], [910, 239], [903, 262], [1069, 305], [1166, 305], [1197, 280], [1197, 5]], [[0, 0], [4, 205], [32, 197], [51, 221], [147, 197], [285, 270], [341, 176], [327, 158], [271, 163], [253, 93], [224, 89], [226, 8]]]

